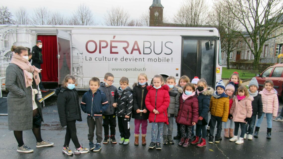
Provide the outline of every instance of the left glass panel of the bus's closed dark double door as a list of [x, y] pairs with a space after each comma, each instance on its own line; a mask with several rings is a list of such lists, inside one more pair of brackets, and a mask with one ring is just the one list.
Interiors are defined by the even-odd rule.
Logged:
[[192, 80], [197, 75], [198, 40], [183, 40], [182, 76]]

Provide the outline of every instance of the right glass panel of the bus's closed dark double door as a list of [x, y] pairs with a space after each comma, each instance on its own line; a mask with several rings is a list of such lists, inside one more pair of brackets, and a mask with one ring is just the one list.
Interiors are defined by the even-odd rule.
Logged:
[[207, 81], [207, 84], [213, 86], [213, 81], [215, 78], [215, 41], [213, 42], [212, 49], [207, 50], [205, 43], [208, 40], [201, 40], [201, 78]]

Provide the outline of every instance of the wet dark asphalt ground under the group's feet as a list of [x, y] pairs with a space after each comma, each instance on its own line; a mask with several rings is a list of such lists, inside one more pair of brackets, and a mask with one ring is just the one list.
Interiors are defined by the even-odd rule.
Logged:
[[[80, 93], [82, 96], [83, 92]], [[80, 98], [81, 100], [81, 98]], [[259, 137], [253, 140], [244, 140], [241, 145], [230, 142], [229, 139], [223, 137], [224, 130], [222, 129], [223, 140], [220, 143], [208, 143], [206, 147], [196, 147], [190, 145], [188, 148], [183, 148], [177, 145], [179, 140], [174, 140], [175, 144], [162, 145], [162, 150], [148, 149], [147, 146], [151, 139], [151, 124], [147, 127], [147, 145], [134, 145], [134, 119], [130, 121], [130, 143], [129, 145], [117, 144], [102, 144], [102, 149], [99, 152], [88, 152], [86, 154], [78, 154], [67, 156], [62, 153], [63, 144], [65, 141], [66, 127], [61, 127], [56, 106], [57, 97], [52, 96], [45, 100], [45, 107], [42, 109], [44, 123], [42, 123], [42, 139], [54, 142], [53, 147], [36, 148], [36, 140], [31, 130], [23, 132], [24, 143], [34, 149], [32, 153], [17, 152], [17, 141], [13, 131], [8, 130], [8, 117], [0, 116], [0, 158], [107, 158], [107, 159], [149, 159], [149, 158], [196, 158], [196, 159], [283, 159], [283, 122], [272, 121], [272, 139], [266, 139], [266, 118], [261, 124]], [[283, 102], [280, 102], [280, 110]], [[88, 126], [86, 122], [87, 115], [82, 112], [82, 122], [76, 122], [77, 136], [80, 143], [84, 147], [89, 147], [87, 139]], [[222, 125], [223, 128], [224, 125]], [[176, 135], [177, 125], [174, 123], [173, 136]], [[239, 130], [240, 131], [240, 130]], [[215, 129], [216, 133], [216, 129]], [[116, 140], [119, 141], [118, 124], [116, 127]], [[240, 132], [238, 133], [241, 134]], [[238, 135], [238, 136], [239, 136]], [[95, 142], [95, 141], [94, 141]], [[70, 142], [70, 148], [74, 151], [74, 144]]]

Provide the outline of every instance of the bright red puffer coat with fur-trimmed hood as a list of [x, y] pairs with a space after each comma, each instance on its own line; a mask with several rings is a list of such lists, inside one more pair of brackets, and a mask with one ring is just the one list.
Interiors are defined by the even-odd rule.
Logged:
[[[167, 108], [170, 103], [169, 87], [163, 85], [159, 89], [155, 89], [152, 85], [146, 88], [148, 90], [145, 97], [145, 105], [149, 110], [149, 123], [164, 122], [168, 124]], [[159, 114], [153, 113], [153, 109], [157, 110]]]

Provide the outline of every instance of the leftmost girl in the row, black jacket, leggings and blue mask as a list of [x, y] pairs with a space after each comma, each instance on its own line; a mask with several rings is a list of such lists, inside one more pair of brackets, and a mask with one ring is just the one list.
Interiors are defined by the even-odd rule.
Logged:
[[[67, 125], [65, 144], [63, 147], [63, 153], [67, 155], [89, 152], [89, 149], [80, 145], [77, 137], [76, 120], [82, 121], [82, 116], [78, 92], [74, 89], [75, 82], [76, 78], [74, 76], [67, 75], [62, 86], [56, 89], [56, 94], [58, 95], [57, 108], [60, 123], [61, 126]], [[69, 148], [71, 139], [76, 147], [74, 153]]]

